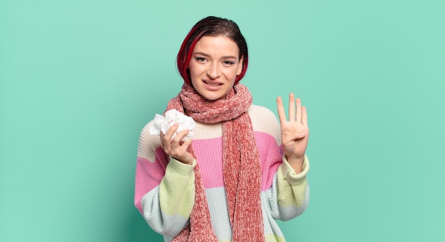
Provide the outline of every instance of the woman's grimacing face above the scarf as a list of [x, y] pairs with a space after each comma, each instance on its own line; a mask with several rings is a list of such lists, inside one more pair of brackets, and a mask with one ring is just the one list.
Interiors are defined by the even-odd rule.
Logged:
[[209, 100], [225, 99], [242, 71], [243, 57], [235, 41], [223, 35], [204, 36], [188, 64], [193, 87]]

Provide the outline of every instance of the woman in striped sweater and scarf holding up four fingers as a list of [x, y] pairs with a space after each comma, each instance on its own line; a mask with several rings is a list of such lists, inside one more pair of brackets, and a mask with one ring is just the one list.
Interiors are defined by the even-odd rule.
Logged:
[[194, 119], [193, 141], [178, 124], [159, 136], [149, 133], [153, 121], [144, 127], [136, 208], [165, 241], [285, 241], [274, 219], [293, 219], [309, 203], [306, 109], [290, 94], [288, 121], [278, 97], [280, 125], [252, 105], [239, 82], [247, 44], [233, 21], [196, 23], [177, 62], [183, 88], [166, 111]]

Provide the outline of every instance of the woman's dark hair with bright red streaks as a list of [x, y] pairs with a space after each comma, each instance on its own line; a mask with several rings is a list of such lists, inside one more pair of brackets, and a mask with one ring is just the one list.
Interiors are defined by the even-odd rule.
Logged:
[[242, 77], [244, 77], [247, 71], [247, 63], [249, 62], [249, 55], [247, 52], [247, 43], [242, 36], [240, 28], [234, 21], [228, 20], [227, 18], [217, 18], [209, 16], [198, 21], [198, 23], [193, 26], [190, 32], [188, 32], [186, 38], [184, 38], [181, 48], [179, 49], [178, 56], [176, 57], [176, 62], [178, 65], [179, 74], [184, 79], [184, 82], [191, 84], [190, 70], [188, 70], [188, 64], [190, 63], [191, 57], [193, 55], [193, 49], [196, 43], [203, 36], [218, 36], [225, 35], [227, 38], [233, 40], [240, 52], [239, 58], [242, 60], [242, 70], [240, 75], [235, 79], [235, 83], [239, 82]]

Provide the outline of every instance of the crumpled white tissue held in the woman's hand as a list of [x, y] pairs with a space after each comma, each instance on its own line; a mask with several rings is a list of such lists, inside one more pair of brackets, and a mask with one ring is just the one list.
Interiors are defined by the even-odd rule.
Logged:
[[179, 126], [171, 138], [174, 138], [177, 133], [185, 129], [190, 130], [190, 132], [182, 139], [182, 141], [186, 141], [188, 138], [193, 138], [192, 130], [195, 128], [195, 121], [190, 116], [186, 116], [176, 109], [166, 111], [166, 116], [156, 114], [154, 116], [154, 123], [150, 128], [150, 134], [159, 136], [161, 131], [165, 134], [167, 133], [168, 128], [173, 126], [175, 123], [178, 123]]

